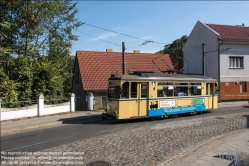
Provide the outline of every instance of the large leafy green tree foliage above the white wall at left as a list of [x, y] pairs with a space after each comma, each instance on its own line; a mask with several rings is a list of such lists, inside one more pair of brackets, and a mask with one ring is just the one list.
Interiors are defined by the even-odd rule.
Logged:
[[70, 50], [82, 25], [71, 0], [2, 0], [0, 97], [30, 100], [43, 93], [60, 98], [71, 91]]

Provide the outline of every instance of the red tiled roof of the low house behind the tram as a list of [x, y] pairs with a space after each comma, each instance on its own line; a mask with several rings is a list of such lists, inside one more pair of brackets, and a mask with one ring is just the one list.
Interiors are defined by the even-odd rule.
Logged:
[[[116, 71], [122, 73], [121, 52], [77, 51], [76, 58], [84, 90], [105, 90], [110, 75]], [[179, 70], [177, 66], [174, 67], [175, 63], [169, 54], [125, 53], [125, 58], [126, 73], [128, 70], [154, 71], [155, 73], [161, 73], [160, 70], [166, 71], [169, 68]]]

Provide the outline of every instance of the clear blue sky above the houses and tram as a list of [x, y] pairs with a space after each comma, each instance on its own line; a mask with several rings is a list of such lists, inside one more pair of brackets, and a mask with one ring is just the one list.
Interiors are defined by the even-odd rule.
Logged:
[[125, 52], [155, 53], [189, 36], [198, 20], [249, 26], [249, 1], [78, 1], [76, 8], [76, 18], [85, 24], [74, 31], [78, 41], [71, 55], [107, 48], [122, 52], [122, 42]]

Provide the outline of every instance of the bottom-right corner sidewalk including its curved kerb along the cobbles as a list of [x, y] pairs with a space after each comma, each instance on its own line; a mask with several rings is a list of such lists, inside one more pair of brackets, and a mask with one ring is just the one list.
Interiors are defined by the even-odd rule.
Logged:
[[212, 138], [157, 166], [249, 166], [249, 129]]

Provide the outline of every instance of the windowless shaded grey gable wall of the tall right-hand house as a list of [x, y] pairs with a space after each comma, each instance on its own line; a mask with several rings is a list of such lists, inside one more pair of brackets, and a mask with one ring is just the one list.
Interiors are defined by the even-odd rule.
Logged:
[[[205, 52], [218, 50], [218, 34], [205, 24], [198, 21], [192, 30], [186, 44], [183, 47], [184, 58], [188, 65], [184, 73], [202, 73], [202, 43], [205, 44]], [[218, 79], [218, 51], [205, 54], [205, 75]], [[187, 60], [184, 60], [186, 65]]]

